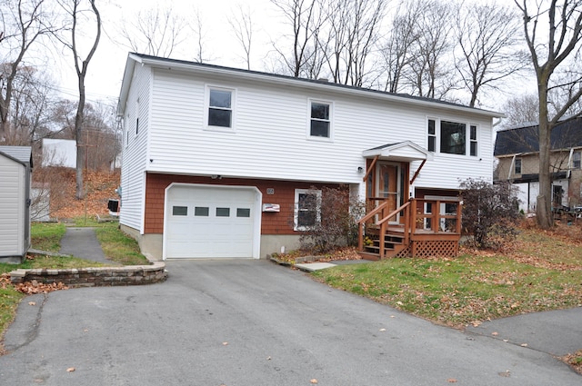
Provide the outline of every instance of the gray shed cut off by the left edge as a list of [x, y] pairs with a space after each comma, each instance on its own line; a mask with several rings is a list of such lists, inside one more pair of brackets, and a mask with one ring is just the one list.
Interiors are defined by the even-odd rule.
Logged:
[[30, 248], [29, 146], [0, 146], [0, 262], [22, 262]]

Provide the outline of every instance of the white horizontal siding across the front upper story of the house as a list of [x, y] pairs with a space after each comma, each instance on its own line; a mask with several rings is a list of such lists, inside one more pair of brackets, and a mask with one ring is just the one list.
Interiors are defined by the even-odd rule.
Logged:
[[[202, 78], [156, 69], [151, 81], [151, 122], [142, 124], [140, 118], [140, 127], [148, 130], [148, 153], [142, 156], [154, 173], [360, 184], [357, 168], [365, 165], [364, 150], [407, 140], [426, 148], [428, 115], [476, 124], [480, 155], [459, 162], [456, 154], [436, 153], [415, 186], [456, 189], [459, 179], [492, 179], [490, 118], [451, 113], [446, 104], [420, 108], [406, 100], [386, 103], [333, 89], [314, 92], [303, 85], [282, 90], [278, 84], [226, 74]], [[236, 131], [206, 129], [206, 84], [228, 84], [236, 90]], [[306, 137], [311, 100], [333, 103], [333, 142]], [[144, 104], [142, 99], [140, 106]], [[419, 164], [412, 164], [411, 173]]]

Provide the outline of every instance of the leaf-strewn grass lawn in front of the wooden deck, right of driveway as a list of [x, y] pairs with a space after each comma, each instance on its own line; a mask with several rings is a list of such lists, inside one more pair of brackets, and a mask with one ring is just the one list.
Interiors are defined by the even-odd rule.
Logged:
[[505, 252], [465, 250], [453, 259], [390, 259], [313, 275], [332, 287], [462, 328], [582, 305], [582, 242], [526, 229]]

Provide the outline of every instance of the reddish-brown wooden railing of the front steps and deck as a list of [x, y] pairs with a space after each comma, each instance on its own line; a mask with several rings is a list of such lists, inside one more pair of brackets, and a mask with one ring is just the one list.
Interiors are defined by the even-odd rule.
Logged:
[[[455, 213], [441, 213], [441, 204], [455, 204]], [[392, 228], [397, 228], [403, 232], [403, 242], [408, 245], [412, 236], [416, 234], [436, 234], [461, 233], [461, 213], [462, 203], [457, 197], [438, 197], [438, 198], [411, 198], [408, 202], [400, 205], [393, 211], [388, 212], [388, 202], [381, 203], [370, 213], [367, 213], [358, 222], [358, 250], [364, 251], [364, 237], [366, 223], [370, 223], [376, 216], [378, 220], [370, 225], [378, 229], [380, 240], [385, 240], [388, 233], [388, 224], [392, 220], [397, 223]], [[429, 211], [427, 209], [430, 209]], [[397, 215], [400, 214], [400, 218]], [[444, 220], [444, 222], [442, 222]], [[442, 226], [444, 225], [444, 226]], [[385, 243], [379, 242], [380, 258], [385, 256]]]

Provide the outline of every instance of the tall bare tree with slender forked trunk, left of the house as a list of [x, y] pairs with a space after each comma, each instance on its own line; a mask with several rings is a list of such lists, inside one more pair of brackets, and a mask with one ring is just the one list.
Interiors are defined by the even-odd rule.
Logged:
[[[87, 74], [87, 69], [95, 51], [97, 50], [97, 45], [99, 45], [99, 39], [101, 38], [101, 14], [95, 5], [95, 0], [87, 0], [89, 2], [90, 8], [83, 8], [82, 3], [84, 0], [59, 0], [59, 4], [63, 7], [66, 14], [71, 22], [70, 25], [70, 40], [60, 38], [61, 42], [68, 48], [73, 54], [73, 59], [75, 63], [75, 72], [77, 75], [77, 87], [79, 92], [79, 103], [76, 109], [75, 115], [75, 141], [77, 144], [76, 152], [76, 193], [75, 197], [81, 200], [85, 197], [85, 191], [83, 189], [83, 166], [85, 163], [85, 153], [87, 144], [84, 144], [84, 114], [85, 114], [85, 76]], [[85, 24], [80, 26], [80, 24]], [[95, 36], [92, 39], [92, 44], [90, 45], [88, 53], [85, 55], [85, 59], [81, 56], [80, 49], [78, 45], [79, 40], [83, 33], [86, 32], [88, 25], [95, 26]], [[85, 37], [85, 36], [83, 36]]]

